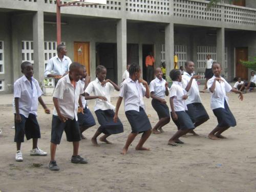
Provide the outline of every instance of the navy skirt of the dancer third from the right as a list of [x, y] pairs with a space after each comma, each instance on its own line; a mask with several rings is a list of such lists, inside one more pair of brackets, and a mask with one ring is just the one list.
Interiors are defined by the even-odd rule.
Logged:
[[177, 111], [176, 114], [178, 116], [178, 120], [174, 120], [172, 116], [172, 112], [170, 112], [170, 116], [172, 117], [178, 130], [195, 129], [194, 123], [192, 122], [189, 115], [185, 111]]

